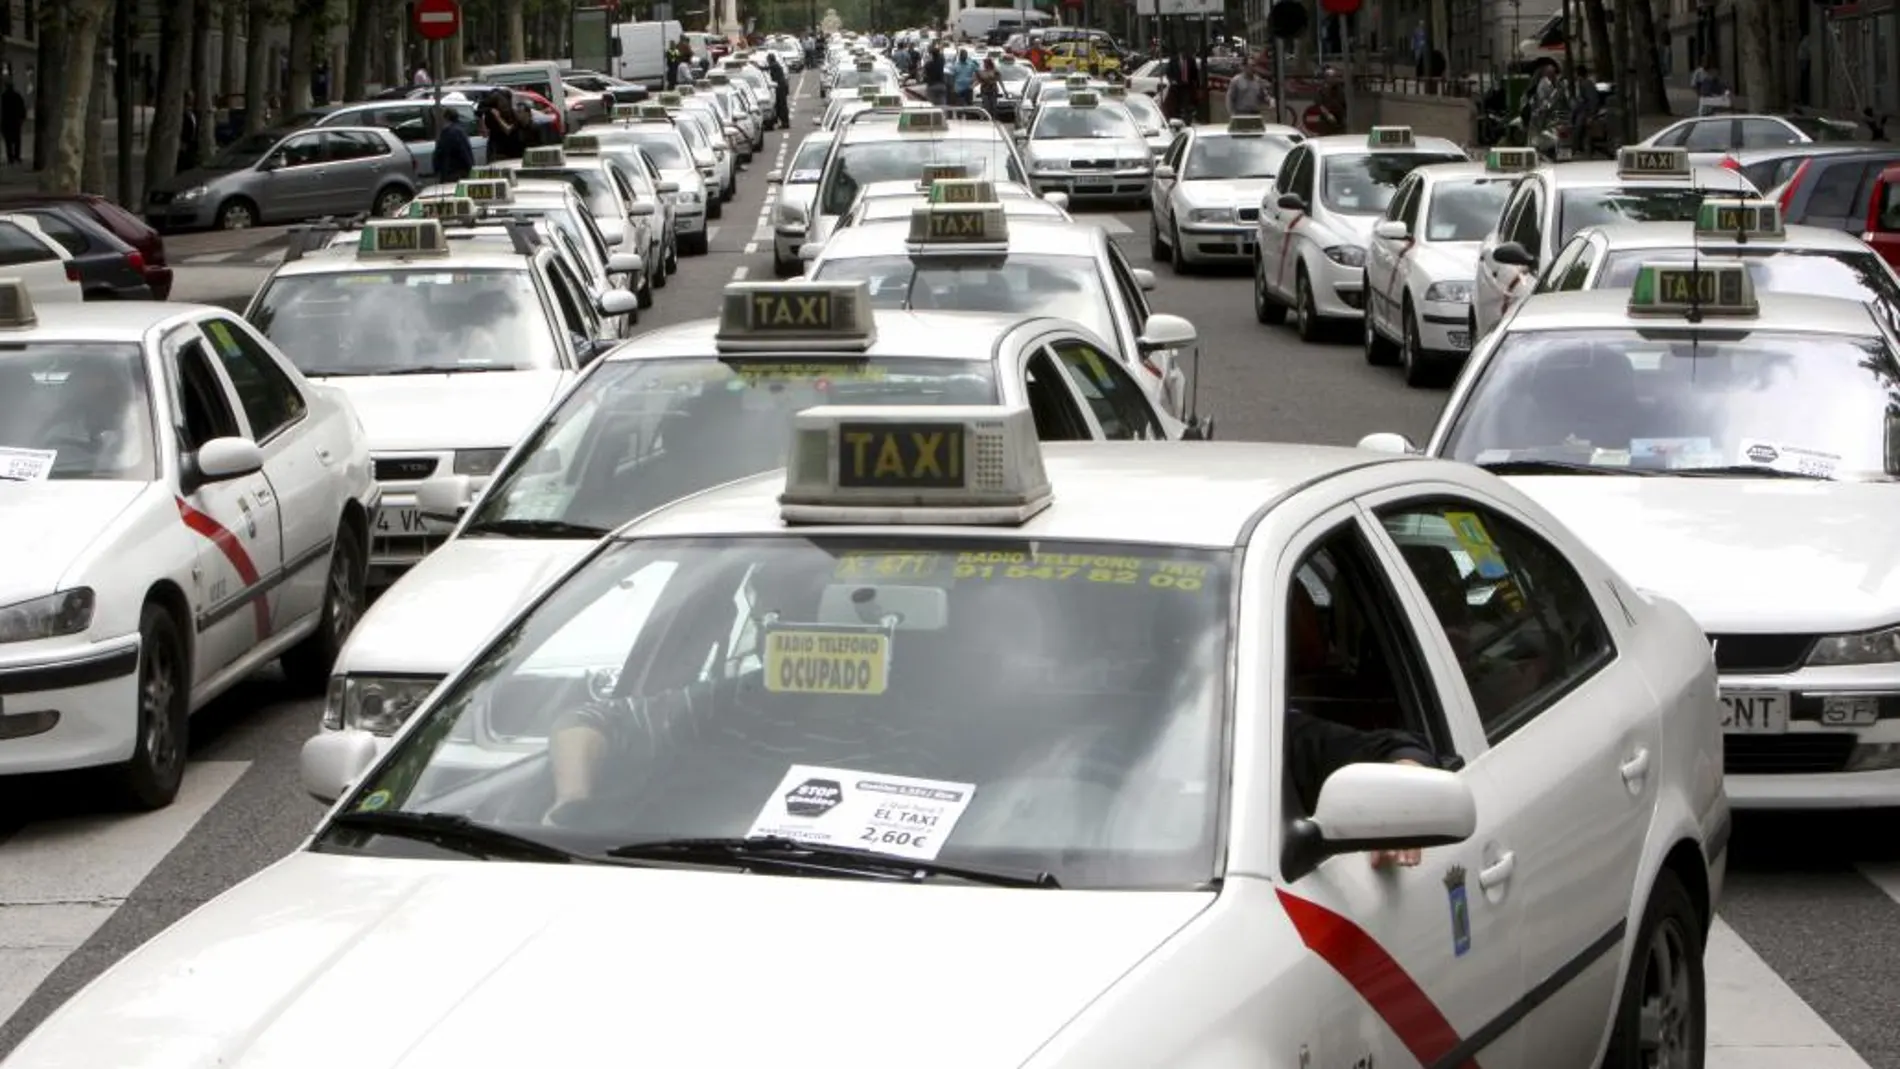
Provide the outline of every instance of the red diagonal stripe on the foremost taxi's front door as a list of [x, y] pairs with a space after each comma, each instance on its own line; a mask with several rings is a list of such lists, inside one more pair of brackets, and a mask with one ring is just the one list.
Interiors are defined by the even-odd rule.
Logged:
[[[1300, 942], [1358, 991], [1419, 1065], [1436, 1065], [1440, 1058], [1457, 1050], [1457, 1029], [1378, 940], [1317, 902], [1284, 891], [1277, 894], [1300, 932]], [[1461, 1069], [1478, 1069], [1478, 1061], [1465, 1061]]]

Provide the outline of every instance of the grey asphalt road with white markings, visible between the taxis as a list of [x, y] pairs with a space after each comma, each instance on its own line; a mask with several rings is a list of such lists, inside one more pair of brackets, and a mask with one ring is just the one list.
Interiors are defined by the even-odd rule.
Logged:
[[[809, 127], [813, 101], [794, 114]], [[711, 253], [682, 260], [644, 327], [716, 311], [732, 279], [771, 277], [764, 228], [783, 135], [741, 182]], [[1140, 213], [1091, 213], [1150, 266]], [[179, 300], [238, 308], [281, 256], [281, 232], [169, 243]], [[1244, 270], [1174, 277], [1157, 311], [1201, 330], [1203, 408], [1222, 439], [1423, 439], [1442, 391], [1408, 389], [1357, 344], [1305, 346], [1254, 323]], [[256, 678], [194, 720], [194, 767], [163, 813], [95, 813], [84, 778], [0, 784], [0, 1056], [99, 970], [188, 910], [293, 851], [321, 807], [296, 780], [319, 703]], [[1900, 813], [1742, 818], [1710, 940], [1712, 1069], [1900, 1069]]]

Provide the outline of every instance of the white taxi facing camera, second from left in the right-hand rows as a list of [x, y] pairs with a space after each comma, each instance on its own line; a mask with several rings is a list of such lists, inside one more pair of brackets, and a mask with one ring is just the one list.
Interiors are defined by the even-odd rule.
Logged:
[[1260, 203], [1281, 161], [1303, 139], [1260, 116], [1182, 131], [1155, 163], [1148, 254], [1178, 275], [1195, 264], [1252, 262]]

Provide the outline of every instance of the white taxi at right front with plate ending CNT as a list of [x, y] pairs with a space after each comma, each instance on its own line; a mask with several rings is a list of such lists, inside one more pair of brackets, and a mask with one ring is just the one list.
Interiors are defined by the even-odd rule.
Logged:
[[1737, 807], [1892, 807], [1896, 389], [1877, 308], [1758, 294], [1742, 262], [1678, 258], [1626, 291], [1524, 300], [1472, 353], [1425, 452], [1510, 475], [1695, 615]]

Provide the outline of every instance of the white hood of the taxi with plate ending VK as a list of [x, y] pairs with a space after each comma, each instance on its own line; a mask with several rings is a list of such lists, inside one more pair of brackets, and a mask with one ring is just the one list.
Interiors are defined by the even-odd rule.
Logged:
[[568, 372], [365, 374], [319, 378], [350, 397], [370, 452], [481, 450], [515, 444]]

